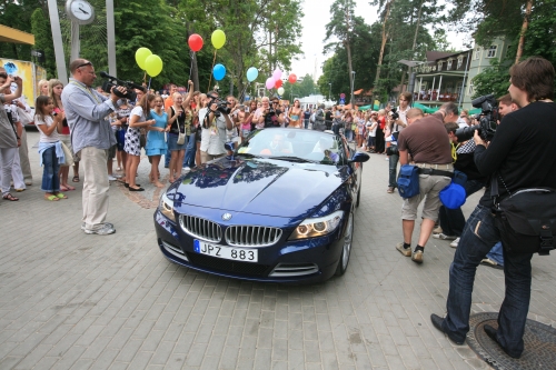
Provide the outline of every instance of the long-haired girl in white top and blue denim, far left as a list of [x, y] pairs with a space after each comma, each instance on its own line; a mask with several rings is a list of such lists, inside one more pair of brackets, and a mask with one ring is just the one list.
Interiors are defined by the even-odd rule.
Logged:
[[67, 199], [68, 197], [60, 192], [60, 178], [58, 177], [60, 170], [59, 160], [66, 161], [60, 137], [58, 136], [58, 130], [61, 131], [63, 128], [64, 113], [62, 111], [52, 116], [54, 101], [48, 96], [38, 97], [34, 107], [37, 109], [34, 126], [40, 132], [39, 156], [41, 164], [44, 166], [41, 190], [44, 191], [46, 200]]

